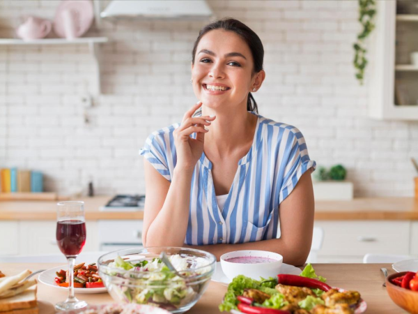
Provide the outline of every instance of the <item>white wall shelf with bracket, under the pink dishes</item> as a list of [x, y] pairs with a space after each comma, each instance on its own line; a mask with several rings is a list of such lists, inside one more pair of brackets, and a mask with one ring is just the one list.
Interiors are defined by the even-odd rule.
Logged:
[[107, 37], [82, 37], [68, 40], [65, 38], [43, 38], [36, 40], [22, 40], [15, 38], [0, 38], [0, 45], [79, 45], [88, 44], [90, 53], [93, 56], [95, 63], [95, 86], [91, 93], [93, 95], [99, 95], [100, 88], [100, 50], [98, 44], [107, 43]]

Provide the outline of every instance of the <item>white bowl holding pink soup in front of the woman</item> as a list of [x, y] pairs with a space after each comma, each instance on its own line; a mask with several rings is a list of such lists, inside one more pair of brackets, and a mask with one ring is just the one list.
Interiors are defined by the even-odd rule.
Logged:
[[[242, 264], [235, 262], [226, 262], [227, 259], [233, 257], [269, 257], [274, 262]], [[243, 250], [225, 253], [221, 256], [221, 267], [224, 274], [229, 279], [233, 279], [238, 275], [244, 275], [255, 280], [260, 280], [260, 277], [269, 278], [276, 277], [279, 274], [281, 264], [283, 263], [283, 256], [277, 253], [268, 251]]]

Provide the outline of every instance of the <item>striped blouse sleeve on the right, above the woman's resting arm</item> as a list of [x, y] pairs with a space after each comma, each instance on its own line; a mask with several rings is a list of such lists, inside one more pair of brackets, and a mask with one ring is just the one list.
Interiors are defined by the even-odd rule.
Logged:
[[302, 174], [308, 169], [314, 171], [316, 162], [309, 158], [307, 144], [300, 130], [293, 128], [286, 143], [286, 152], [283, 162], [286, 163], [284, 179], [279, 194], [279, 204], [283, 202], [295, 188]]

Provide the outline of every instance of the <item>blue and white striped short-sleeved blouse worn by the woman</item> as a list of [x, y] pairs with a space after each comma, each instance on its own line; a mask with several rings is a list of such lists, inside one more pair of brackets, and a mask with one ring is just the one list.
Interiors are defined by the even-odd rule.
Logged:
[[[204, 152], [196, 163], [185, 244], [238, 244], [280, 237], [279, 205], [316, 163], [309, 159], [300, 130], [257, 116], [253, 144], [238, 162], [222, 211], [213, 186], [212, 163]], [[152, 133], [139, 151], [169, 181], [176, 167], [173, 130], [178, 126]]]

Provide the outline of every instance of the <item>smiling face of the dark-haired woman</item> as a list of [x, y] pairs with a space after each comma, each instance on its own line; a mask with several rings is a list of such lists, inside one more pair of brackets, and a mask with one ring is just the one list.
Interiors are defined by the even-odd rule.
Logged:
[[240, 36], [222, 29], [209, 31], [197, 45], [192, 64], [194, 94], [212, 109], [247, 108], [253, 68], [251, 50]]

